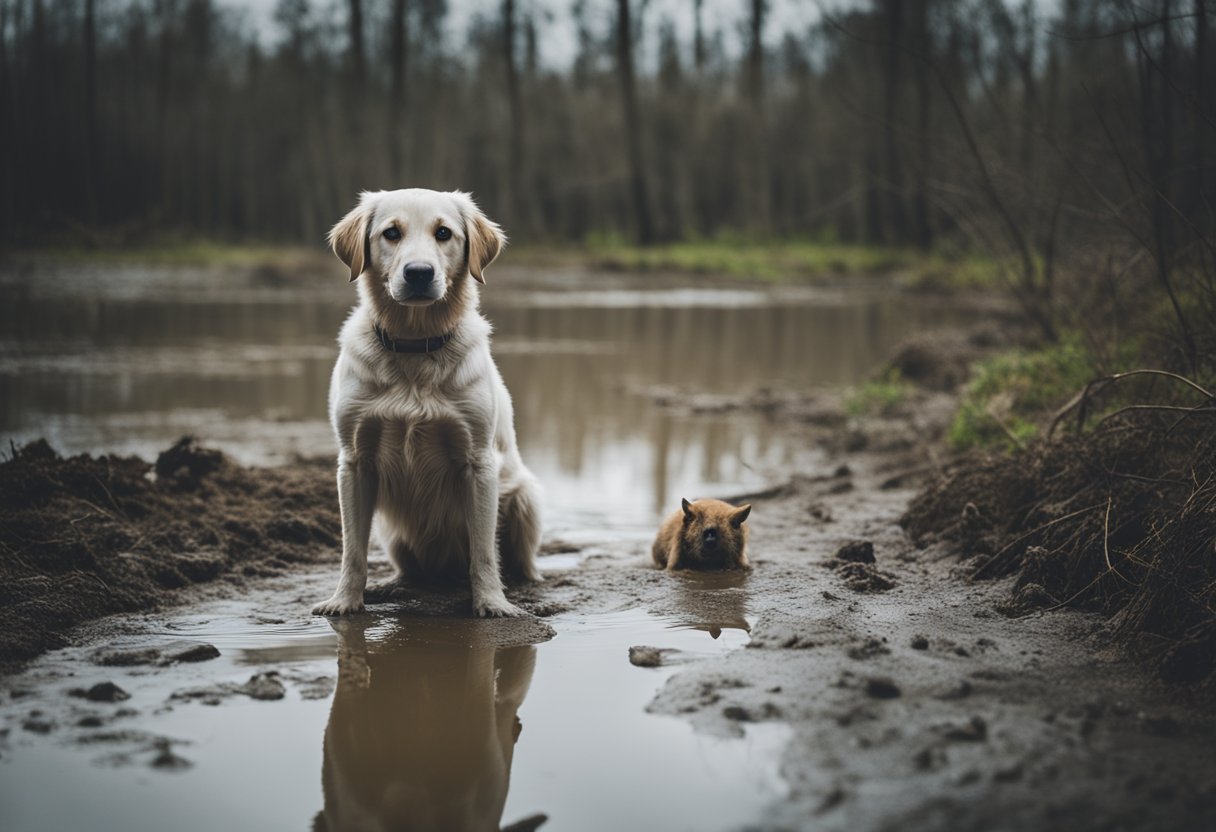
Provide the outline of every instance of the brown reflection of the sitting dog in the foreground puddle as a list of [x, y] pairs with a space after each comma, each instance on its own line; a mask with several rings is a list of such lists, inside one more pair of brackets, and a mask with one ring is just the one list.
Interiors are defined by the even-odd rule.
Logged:
[[331, 624], [338, 687], [325, 731], [325, 809], [313, 828], [496, 832], [536, 648], [471, 647], [482, 634], [469, 636], [474, 622], [416, 619], [373, 641], [366, 622]]

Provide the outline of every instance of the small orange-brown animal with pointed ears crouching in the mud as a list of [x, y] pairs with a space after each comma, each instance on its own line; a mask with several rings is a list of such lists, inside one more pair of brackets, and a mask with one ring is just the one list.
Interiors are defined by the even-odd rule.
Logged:
[[721, 500], [681, 500], [682, 510], [659, 528], [651, 555], [660, 569], [750, 569], [748, 527], [751, 506]]

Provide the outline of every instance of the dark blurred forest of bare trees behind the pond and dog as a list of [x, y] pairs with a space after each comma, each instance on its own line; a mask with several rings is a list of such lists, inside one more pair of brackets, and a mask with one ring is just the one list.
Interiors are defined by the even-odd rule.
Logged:
[[1203, 248], [1204, 0], [738, 6], [280, 0], [265, 32], [210, 0], [9, 0], [4, 236], [315, 243], [360, 189], [416, 184], [529, 242]]

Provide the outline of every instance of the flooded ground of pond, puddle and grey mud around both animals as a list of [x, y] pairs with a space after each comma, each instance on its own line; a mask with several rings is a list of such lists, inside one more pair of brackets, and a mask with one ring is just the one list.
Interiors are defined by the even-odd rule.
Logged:
[[[1210, 712], [1138, 673], [1097, 617], [1006, 618], [1007, 585], [959, 580], [903, 534], [947, 394], [867, 420], [837, 399], [820, 426], [788, 411], [974, 311], [873, 286], [490, 279], [558, 552], [542, 585], [510, 591], [533, 617], [477, 622], [467, 591], [401, 590], [330, 622], [308, 609], [336, 563], [292, 562], [86, 625], [4, 679], [0, 827], [1216, 823]], [[190, 431], [289, 463], [247, 477], [328, 479], [291, 460], [332, 450], [350, 296], [330, 280], [2, 272], [0, 433], [151, 456]], [[753, 504], [750, 573], [649, 567], [685, 494]]]

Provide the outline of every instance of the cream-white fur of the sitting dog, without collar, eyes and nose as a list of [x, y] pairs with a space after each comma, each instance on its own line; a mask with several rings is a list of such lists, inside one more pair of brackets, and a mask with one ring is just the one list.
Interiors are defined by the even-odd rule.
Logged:
[[[451, 237], [440, 240], [440, 227]], [[539, 485], [519, 457], [511, 395], [469, 280], [484, 282], [502, 231], [467, 193], [411, 189], [364, 193], [330, 242], [360, 303], [338, 336], [330, 386], [342, 575], [313, 612], [364, 608], [375, 516], [394, 580], [467, 574], [478, 615], [522, 614], [501, 570], [540, 580]], [[406, 264], [434, 269], [428, 297], [407, 287]], [[392, 353], [373, 324], [399, 339], [452, 337], [432, 353]]]

